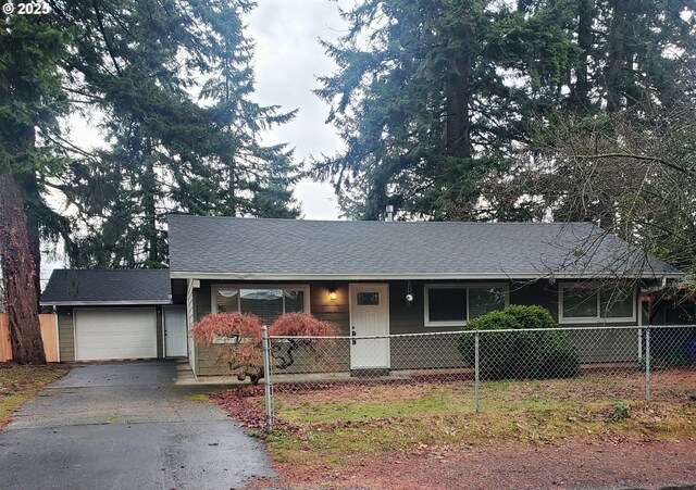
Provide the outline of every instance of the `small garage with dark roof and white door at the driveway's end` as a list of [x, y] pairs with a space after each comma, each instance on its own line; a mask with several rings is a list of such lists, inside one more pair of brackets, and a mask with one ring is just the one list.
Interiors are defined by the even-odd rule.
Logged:
[[41, 294], [55, 306], [63, 362], [186, 356], [174, 303], [167, 269], [57, 269]]

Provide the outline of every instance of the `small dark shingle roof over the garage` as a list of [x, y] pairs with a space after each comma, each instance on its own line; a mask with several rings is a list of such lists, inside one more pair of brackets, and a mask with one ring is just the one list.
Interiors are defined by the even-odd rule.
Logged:
[[169, 269], [53, 271], [41, 304], [170, 303]]

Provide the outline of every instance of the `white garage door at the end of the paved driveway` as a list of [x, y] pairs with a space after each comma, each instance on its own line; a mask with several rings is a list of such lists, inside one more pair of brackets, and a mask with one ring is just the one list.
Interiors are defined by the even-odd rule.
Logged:
[[157, 357], [154, 309], [75, 310], [75, 360]]

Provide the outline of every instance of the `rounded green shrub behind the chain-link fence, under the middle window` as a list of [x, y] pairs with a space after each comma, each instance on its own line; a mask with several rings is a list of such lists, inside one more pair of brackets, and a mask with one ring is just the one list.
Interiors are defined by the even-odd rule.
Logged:
[[[465, 330], [552, 329], [556, 322], [542, 306], [508, 306], [467, 324]], [[464, 361], [474, 365], [474, 336], [458, 342]], [[580, 359], [567, 331], [485, 331], [478, 336], [482, 379], [570, 378], [580, 374]]]

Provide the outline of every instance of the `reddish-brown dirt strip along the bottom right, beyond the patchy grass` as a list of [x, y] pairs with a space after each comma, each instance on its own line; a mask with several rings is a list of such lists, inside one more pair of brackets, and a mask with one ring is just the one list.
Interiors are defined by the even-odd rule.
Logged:
[[[696, 441], [569, 441], [422, 448], [352, 457], [341, 467], [276, 464], [279, 481], [254, 489], [577, 489], [696, 486]], [[696, 488], [696, 487], [692, 487]]]

